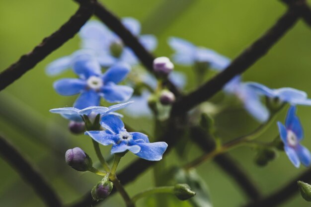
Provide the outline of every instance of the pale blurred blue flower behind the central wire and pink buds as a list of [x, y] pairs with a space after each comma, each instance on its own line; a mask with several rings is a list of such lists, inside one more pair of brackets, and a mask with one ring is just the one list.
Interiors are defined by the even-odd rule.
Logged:
[[[169, 74], [168, 79], [174, 83], [178, 88], [182, 89], [186, 84], [186, 76], [182, 72], [172, 71]], [[142, 81], [148, 84], [151, 88], [156, 89], [157, 81], [156, 78], [149, 73], [146, 73], [142, 77]], [[151, 92], [149, 90], [143, 90], [140, 96], [134, 95], [130, 101], [133, 101], [134, 104], [131, 104], [125, 109], [125, 112], [132, 117], [151, 117], [152, 111], [148, 105], [148, 98], [150, 97]]]

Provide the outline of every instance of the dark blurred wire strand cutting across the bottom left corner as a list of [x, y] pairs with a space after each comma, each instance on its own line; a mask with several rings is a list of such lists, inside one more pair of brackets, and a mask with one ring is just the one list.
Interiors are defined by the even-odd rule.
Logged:
[[62, 207], [60, 199], [40, 173], [31, 166], [12, 144], [8, 143], [1, 136], [0, 155], [32, 186], [48, 207]]

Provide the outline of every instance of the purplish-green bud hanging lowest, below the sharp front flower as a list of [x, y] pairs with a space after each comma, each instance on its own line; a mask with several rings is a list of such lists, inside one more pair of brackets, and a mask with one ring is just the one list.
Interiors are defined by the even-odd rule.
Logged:
[[109, 196], [113, 189], [113, 183], [105, 176], [101, 181], [93, 187], [91, 194], [95, 201], [100, 201]]

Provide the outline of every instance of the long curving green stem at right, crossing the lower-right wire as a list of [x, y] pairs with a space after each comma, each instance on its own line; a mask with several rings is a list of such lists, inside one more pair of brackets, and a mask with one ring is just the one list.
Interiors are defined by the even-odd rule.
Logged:
[[201, 163], [203, 163], [209, 159], [212, 159], [219, 154], [227, 152], [227, 151], [233, 149], [234, 147], [248, 143], [250, 140], [258, 138], [260, 135], [262, 135], [271, 126], [272, 123], [274, 123], [277, 112], [279, 112], [283, 108], [283, 106], [284, 106], [284, 104], [282, 106], [280, 106], [280, 108], [278, 110], [276, 110], [270, 116], [269, 120], [266, 123], [260, 125], [252, 133], [245, 135], [245, 136], [242, 136], [242, 137], [239, 137], [239, 138], [235, 138], [232, 141], [229, 141], [229, 142], [217, 147], [213, 151], [206, 153], [206, 154], [203, 154], [202, 156], [200, 156], [200, 157], [196, 158], [195, 160], [191, 161], [190, 163], [186, 164], [184, 166], [184, 169], [190, 169], [190, 168], [196, 167], [199, 164], [201, 164]]

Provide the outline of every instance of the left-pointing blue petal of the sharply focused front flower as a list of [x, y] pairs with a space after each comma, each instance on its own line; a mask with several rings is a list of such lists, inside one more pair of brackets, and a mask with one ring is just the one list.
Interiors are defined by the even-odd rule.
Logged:
[[90, 136], [92, 139], [102, 145], [115, 144], [119, 140], [119, 135], [112, 135], [109, 131], [86, 131], [85, 135]]

